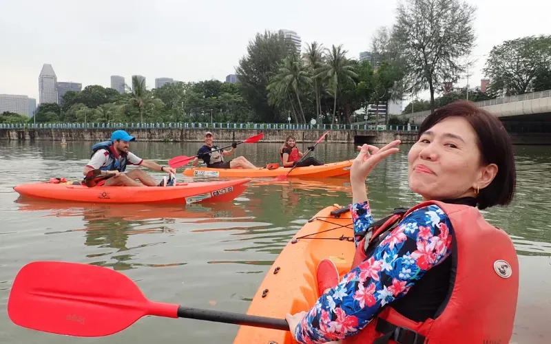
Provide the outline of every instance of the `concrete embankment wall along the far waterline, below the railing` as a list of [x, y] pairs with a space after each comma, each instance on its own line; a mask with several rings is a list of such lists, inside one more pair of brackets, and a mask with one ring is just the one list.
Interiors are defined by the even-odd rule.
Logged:
[[[126, 129], [140, 141], [158, 142], [202, 142], [206, 129]], [[0, 129], [0, 140], [61, 140], [94, 141], [109, 140], [113, 129]], [[262, 132], [257, 129], [211, 129], [216, 142], [241, 141]], [[325, 130], [264, 130], [262, 142], [284, 142], [287, 136], [294, 136], [298, 142], [315, 142]], [[326, 136], [325, 142], [343, 143], [386, 143], [402, 140], [415, 142], [414, 131], [355, 131], [334, 130]]]

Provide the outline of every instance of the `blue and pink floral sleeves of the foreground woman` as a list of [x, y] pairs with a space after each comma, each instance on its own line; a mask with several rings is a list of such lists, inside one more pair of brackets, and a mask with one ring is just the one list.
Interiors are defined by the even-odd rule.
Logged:
[[[373, 224], [366, 201], [351, 204], [355, 245]], [[298, 343], [338, 341], [364, 328], [384, 305], [408, 292], [427, 270], [451, 253], [451, 223], [437, 205], [409, 213], [373, 255], [323, 294], [295, 330]]]

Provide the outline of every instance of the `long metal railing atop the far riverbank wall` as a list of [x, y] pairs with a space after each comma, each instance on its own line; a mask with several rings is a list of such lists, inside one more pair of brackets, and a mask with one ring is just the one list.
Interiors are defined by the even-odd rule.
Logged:
[[417, 125], [297, 125], [289, 123], [0, 123], [0, 129], [218, 129], [218, 130], [359, 130], [417, 131]]

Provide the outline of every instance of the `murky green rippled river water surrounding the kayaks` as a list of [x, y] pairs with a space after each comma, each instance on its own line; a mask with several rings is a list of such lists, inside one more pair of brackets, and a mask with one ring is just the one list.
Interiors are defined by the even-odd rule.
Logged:
[[[249, 188], [226, 204], [94, 205], [21, 199], [17, 184], [65, 177], [80, 180], [94, 142], [0, 142], [0, 343], [231, 343], [238, 325], [148, 316], [112, 336], [74, 338], [27, 330], [8, 318], [13, 279], [30, 261], [75, 261], [114, 268], [148, 299], [196, 308], [246, 312], [273, 260], [309, 217], [351, 202], [349, 180], [292, 180]], [[193, 155], [199, 143], [132, 142], [141, 158], [166, 164]], [[306, 144], [301, 149], [306, 149]], [[368, 178], [374, 217], [420, 197], [408, 190], [410, 146]], [[276, 162], [279, 144], [242, 144], [253, 164]], [[516, 146], [517, 194], [507, 208], [483, 211], [512, 237], [521, 285], [512, 343], [550, 343], [551, 147]], [[324, 162], [354, 158], [352, 144], [320, 144]], [[178, 172], [178, 181], [191, 180]], [[150, 172], [155, 178], [162, 174]], [[300, 264], [300, 262], [298, 262]], [[293, 286], [289, 286], [293, 288]], [[488, 288], [488, 286], [480, 286]], [[32, 311], [32, 310], [29, 310]]]

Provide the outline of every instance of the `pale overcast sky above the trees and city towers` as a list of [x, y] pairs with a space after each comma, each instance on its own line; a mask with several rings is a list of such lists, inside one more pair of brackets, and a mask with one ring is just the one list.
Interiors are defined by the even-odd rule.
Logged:
[[[256, 32], [295, 30], [305, 43], [368, 50], [373, 32], [395, 21], [397, 1], [0, 0], [0, 94], [39, 99], [43, 63], [58, 82], [110, 87], [132, 74], [182, 81], [225, 80]], [[478, 8], [473, 55], [520, 36], [551, 34], [548, 0], [468, 0]], [[345, 14], [337, 14], [338, 12]], [[485, 56], [470, 77], [479, 85]], [[461, 80], [459, 85], [465, 85]], [[428, 98], [428, 92], [419, 96]], [[404, 103], [405, 107], [406, 103]]]

